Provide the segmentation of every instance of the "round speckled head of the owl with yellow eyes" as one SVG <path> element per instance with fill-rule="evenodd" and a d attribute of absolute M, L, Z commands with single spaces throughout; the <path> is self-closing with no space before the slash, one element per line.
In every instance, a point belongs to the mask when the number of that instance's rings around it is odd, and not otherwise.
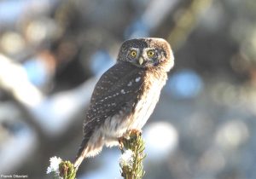
<path fill-rule="evenodd" d="M 162 38 L 136 38 L 125 41 L 119 50 L 118 61 L 165 72 L 169 72 L 174 65 L 171 46 Z"/>

